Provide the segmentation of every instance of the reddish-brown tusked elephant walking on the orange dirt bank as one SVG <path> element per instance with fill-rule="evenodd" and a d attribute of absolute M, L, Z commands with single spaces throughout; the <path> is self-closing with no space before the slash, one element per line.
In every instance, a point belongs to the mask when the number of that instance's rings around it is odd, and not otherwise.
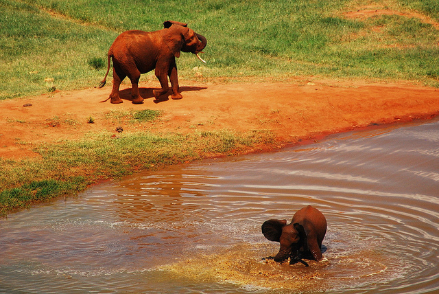
<path fill-rule="evenodd" d="M 173 92 L 171 98 L 182 98 L 178 93 L 176 57 L 180 57 L 180 51 L 191 52 L 198 56 L 198 53 L 206 47 L 207 40 L 189 29 L 187 23 L 165 21 L 163 25 L 165 26 L 163 30 L 155 32 L 139 30 L 123 32 L 112 43 L 108 50 L 107 72 L 104 80 L 99 84 L 99 88 L 102 88 L 106 83 L 111 58 L 113 64 L 111 103 L 123 102 L 119 97 L 119 86 L 127 76 L 132 84 L 132 103 L 142 103 L 143 98 L 139 95 L 139 78 L 141 74 L 152 69 L 156 69 L 155 74 L 161 84 L 161 89 L 153 91 L 156 100 L 169 89 L 167 76 L 171 81 Z"/>

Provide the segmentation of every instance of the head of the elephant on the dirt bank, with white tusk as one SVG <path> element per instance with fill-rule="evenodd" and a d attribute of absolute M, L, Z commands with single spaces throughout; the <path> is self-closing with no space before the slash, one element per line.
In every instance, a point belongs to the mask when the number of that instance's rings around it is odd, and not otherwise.
<path fill-rule="evenodd" d="M 187 27 L 187 23 L 178 21 L 165 21 L 163 23 L 167 32 L 163 36 L 163 41 L 171 49 L 176 57 L 180 57 L 180 51 L 195 54 L 203 63 L 206 61 L 198 55 L 206 47 L 207 40 L 204 36 L 193 32 Z"/>

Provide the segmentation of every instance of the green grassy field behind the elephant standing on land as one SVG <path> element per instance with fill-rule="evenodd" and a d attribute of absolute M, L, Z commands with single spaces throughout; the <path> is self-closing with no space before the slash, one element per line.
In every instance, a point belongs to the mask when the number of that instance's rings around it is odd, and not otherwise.
<path fill-rule="evenodd" d="M 320 75 L 435 84 L 438 30 L 405 16 L 343 15 L 370 3 L 439 17 L 438 0 L 0 0 L 0 99 L 45 93 L 45 78 L 61 90 L 94 87 L 120 32 L 160 30 L 167 19 L 185 21 L 208 39 L 204 78 Z M 180 77 L 193 78 L 200 63 L 182 54 L 178 66 Z"/>

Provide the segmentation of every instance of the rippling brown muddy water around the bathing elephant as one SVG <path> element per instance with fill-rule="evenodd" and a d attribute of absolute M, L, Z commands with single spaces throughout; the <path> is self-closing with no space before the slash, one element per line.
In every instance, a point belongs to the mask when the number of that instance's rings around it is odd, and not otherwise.
<path fill-rule="evenodd" d="M 308 204 L 324 260 L 261 260 L 263 221 Z M 0 229 L 1 293 L 434 293 L 439 121 L 136 174 Z"/>

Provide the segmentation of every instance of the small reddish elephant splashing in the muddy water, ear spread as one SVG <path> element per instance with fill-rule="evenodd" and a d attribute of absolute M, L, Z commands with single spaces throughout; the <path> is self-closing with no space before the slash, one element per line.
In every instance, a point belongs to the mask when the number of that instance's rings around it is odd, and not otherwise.
<path fill-rule="evenodd" d="M 292 222 L 287 220 L 267 220 L 262 225 L 262 234 L 270 241 L 281 243 L 281 249 L 274 261 L 283 262 L 287 258 L 290 264 L 298 261 L 307 266 L 302 258 L 322 260 L 322 240 L 327 232 L 327 220 L 322 212 L 308 205 L 298 210 Z"/>

